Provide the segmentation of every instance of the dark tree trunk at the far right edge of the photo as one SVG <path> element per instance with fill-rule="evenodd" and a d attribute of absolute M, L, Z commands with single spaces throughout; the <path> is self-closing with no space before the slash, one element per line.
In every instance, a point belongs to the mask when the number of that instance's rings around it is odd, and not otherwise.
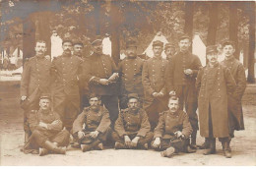
<path fill-rule="evenodd" d="M 254 65 L 255 65 L 255 2 L 250 3 L 249 8 L 249 53 L 248 53 L 248 77 L 247 82 L 255 84 Z"/>

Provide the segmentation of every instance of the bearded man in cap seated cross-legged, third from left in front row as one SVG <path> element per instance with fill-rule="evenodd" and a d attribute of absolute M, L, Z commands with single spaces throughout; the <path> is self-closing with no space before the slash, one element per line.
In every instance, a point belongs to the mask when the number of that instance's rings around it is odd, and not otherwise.
<path fill-rule="evenodd" d="M 146 111 L 139 106 L 138 94 L 128 94 L 128 108 L 119 113 L 114 130 L 115 149 L 148 149 L 153 133 Z"/>

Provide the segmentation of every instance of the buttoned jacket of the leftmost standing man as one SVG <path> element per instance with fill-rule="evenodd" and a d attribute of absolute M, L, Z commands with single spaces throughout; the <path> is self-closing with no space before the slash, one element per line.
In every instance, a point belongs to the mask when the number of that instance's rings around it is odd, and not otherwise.
<path fill-rule="evenodd" d="M 34 56 L 28 59 L 22 75 L 21 95 L 30 97 L 33 94 L 40 95 L 41 92 L 49 93 L 50 66 L 51 61 L 45 57 Z"/>

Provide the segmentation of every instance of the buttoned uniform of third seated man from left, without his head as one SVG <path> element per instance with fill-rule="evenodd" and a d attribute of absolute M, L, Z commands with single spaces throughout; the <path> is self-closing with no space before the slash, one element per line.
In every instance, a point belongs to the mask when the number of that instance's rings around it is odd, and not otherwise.
<path fill-rule="evenodd" d="M 131 112 L 129 108 L 121 110 L 115 122 L 112 138 L 114 141 L 124 143 L 124 136 L 131 140 L 140 137 L 138 145 L 144 145 L 153 138 L 148 115 L 140 108 L 138 112 Z"/>

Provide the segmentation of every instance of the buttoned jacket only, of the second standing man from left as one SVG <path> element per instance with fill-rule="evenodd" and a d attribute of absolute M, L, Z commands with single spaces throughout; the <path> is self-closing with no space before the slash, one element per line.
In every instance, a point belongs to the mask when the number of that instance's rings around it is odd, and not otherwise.
<path fill-rule="evenodd" d="M 78 82 L 83 79 L 83 61 L 77 56 L 61 55 L 53 59 L 53 93 L 79 95 Z"/>

